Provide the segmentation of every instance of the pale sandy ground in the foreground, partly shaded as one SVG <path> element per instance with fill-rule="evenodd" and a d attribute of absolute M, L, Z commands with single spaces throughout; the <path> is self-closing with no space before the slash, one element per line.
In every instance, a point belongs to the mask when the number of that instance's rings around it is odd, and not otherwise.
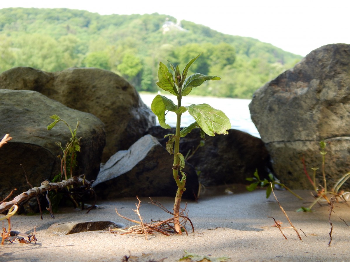
<path fill-rule="evenodd" d="M 37 243 L 5 243 L 0 247 L 0 261 L 122 261 L 124 255 L 131 254 L 128 261 L 179 261 L 184 250 L 209 257 L 230 257 L 227 261 L 349 261 L 350 228 L 338 218 L 342 217 L 350 225 L 350 208 L 344 203 L 336 204 L 332 214 L 332 242 L 329 242 L 329 208 L 315 205 L 313 213 L 295 212 L 300 206 L 308 206 L 313 201 L 310 191 L 296 191 L 304 200 L 295 198 L 287 191 L 276 191 L 281 205 L 299 231 L 299 240 L 293 228 L 283 228 L 282 236 L 278 228 L 272 226 L 276 220 L 288 227 L 289 223 L 273 196 L 265 198 L 264 190 L 247 192 L 234 188 L 234 194 L 225 194 L 224 188 L 206 194 L 196 202 L 188 202 L 189 217 L 195 232 L 186 235 L 118 235 L 106 231 L 92 231 L 57 236 L 47 228 L 54 223 L 76 220 L 111 220 L 132 226 L 129 221 L 118 217 L 115 208 L 126 217 L 137 219 L 136 198 L 100 201 L 102 209 L 76 211 L 66 208 L 55 214 L 40 216 L 17 215 L 12 218 L 13 230 L 23 233 L 37 228 Z M 173 199 L 157 197 L 169 210 Z M 149 198 L 141 198 L 140 213 L 145 222 L 168 218 L 168 214 L 149 203 Z M 187 227 L 189 229 L 189 227 Z"/>

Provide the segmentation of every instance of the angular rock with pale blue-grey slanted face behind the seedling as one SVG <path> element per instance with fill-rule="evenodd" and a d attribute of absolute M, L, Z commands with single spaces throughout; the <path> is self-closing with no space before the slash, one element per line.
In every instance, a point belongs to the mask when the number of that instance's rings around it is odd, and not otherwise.
<path fill-rule="evenodd" d="M 135 196 L 175 197 L 173 156 L 158 140 L 147 134 L 128 150 L 118 151 L 101 166 L 93 188 L 98 197 L 118 198 Z M 190 165 L 186 165 L 186 191 L 184 198 L 194 199 L 198 191 L 198 177 Z"/>

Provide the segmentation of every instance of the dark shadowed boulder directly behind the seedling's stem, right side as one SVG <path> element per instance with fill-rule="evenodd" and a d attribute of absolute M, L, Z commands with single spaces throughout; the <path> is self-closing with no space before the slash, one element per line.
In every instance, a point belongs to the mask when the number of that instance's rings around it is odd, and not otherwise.
<path fill-rule="evenodd" d="M 199 129 L 181 138 L 180 153 L 186 156 L 189 152 L 188 162 L 196 168 L 200 182 L 204 185 L 247 183 L 246 178 L 252 177 L 256 169 L 261 177 L 267 177 L 270 159 L 261 139 L 235 129 L 228 132 L 215 137 L 205 136 L 204 146 L 200 147 Z M 164 135 L 175 133 L 175 129 L 154 126 L 148 133 L 165 147 L 168 138 Z"/>

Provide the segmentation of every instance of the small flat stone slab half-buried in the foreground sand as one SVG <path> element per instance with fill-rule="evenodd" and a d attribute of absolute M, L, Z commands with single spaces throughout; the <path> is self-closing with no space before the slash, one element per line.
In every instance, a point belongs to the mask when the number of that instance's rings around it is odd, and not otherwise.
<path fill-rule="evenodd" d="M 123 223 L 115 223 L 112 221 L 78 221 L 69 223 L 59 223 L 51 225 L 47 230 L 55 235 L 69 235 L 85 231 L 106 230 L 108 228 L 125 227 Z"/>

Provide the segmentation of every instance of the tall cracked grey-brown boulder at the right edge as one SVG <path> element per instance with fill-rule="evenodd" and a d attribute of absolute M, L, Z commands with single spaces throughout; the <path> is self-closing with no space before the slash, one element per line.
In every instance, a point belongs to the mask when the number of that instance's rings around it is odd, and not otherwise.
<path fill-rule="evenodd" d="M 349 172 L 349 72 L 350 45 L 325 45 L 254 93 L 249 105 L 252 121 L 266 143 L 277 177 L 289 187 L 311 187 L 303 158 L 307 172 L 320 168 L 316 176 L 322 177 L 321 140 L 327 143 L 328 185 Z"/>

